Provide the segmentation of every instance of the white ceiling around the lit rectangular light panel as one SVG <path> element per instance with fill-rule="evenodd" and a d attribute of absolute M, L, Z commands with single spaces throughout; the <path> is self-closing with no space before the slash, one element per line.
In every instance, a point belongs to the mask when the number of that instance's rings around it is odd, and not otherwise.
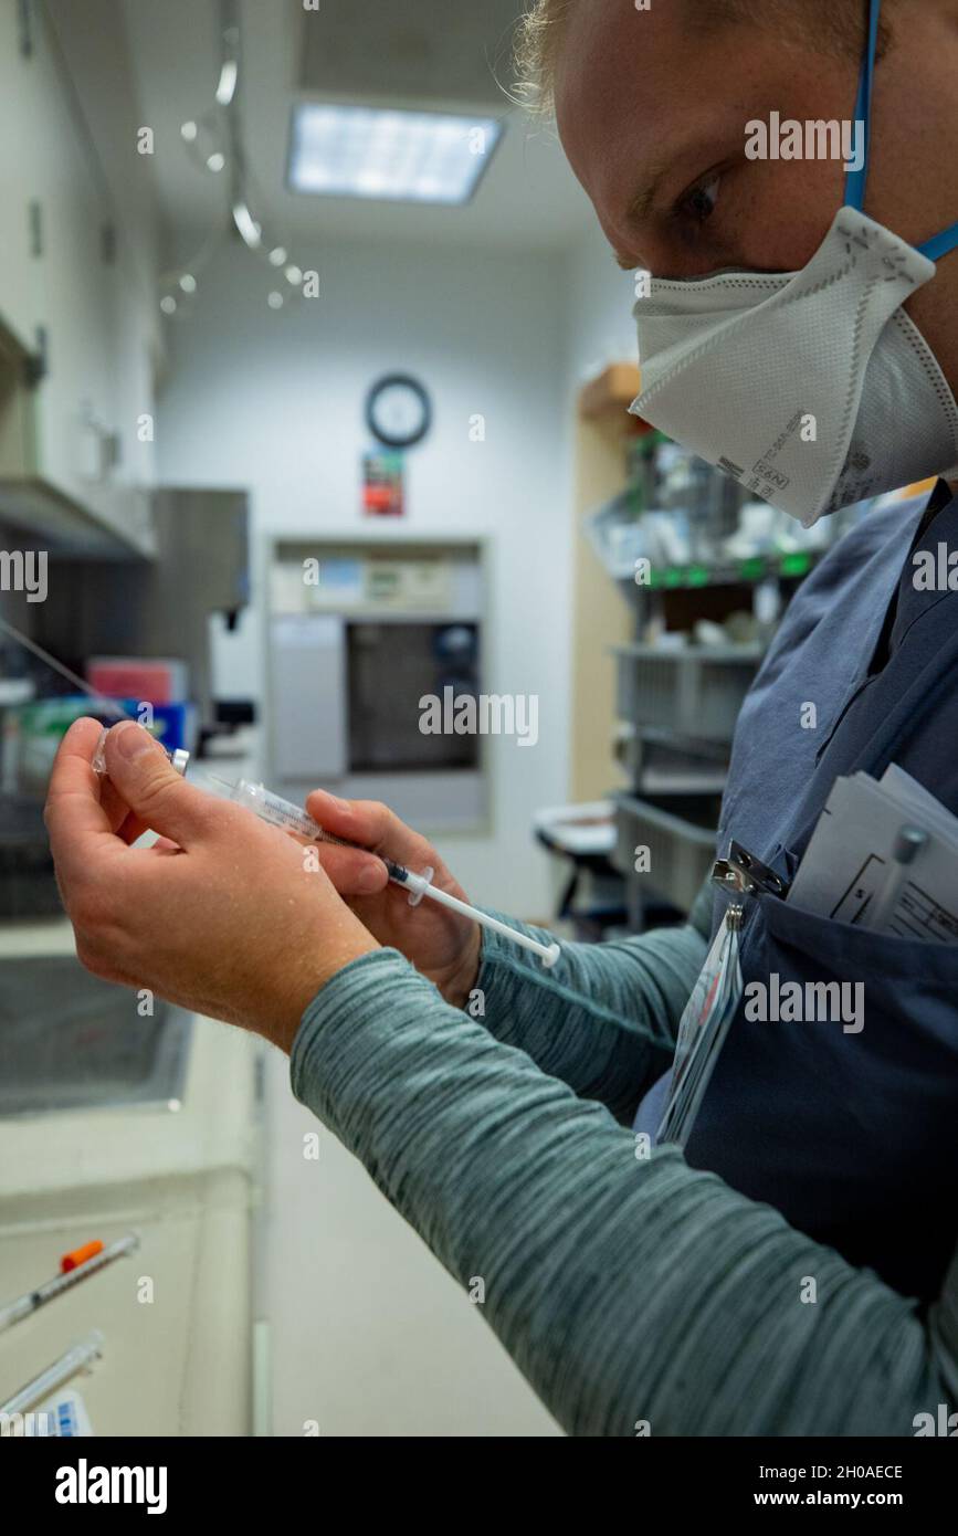
<path fill-rule="evenodd" d="M 141 121 L 155 132 L 161 217 L 183 255 L 198 232 L 227 217 L 226 178 L 198 170 L 180 137 L 180 124 L 213 103 L 220 6 L 218 0 L 120 3 Z M 573 244 L 591 221 L 585 194 L 554 131 L 530 124 L 494 83 L 493 71 L 510 80 L 510 18 L 520 9 L 520 0 L 319 0 L 319 9 L 307 12 L 302 0 L 240 0 L 244 144 L 258 190 L 253 214 L 269 238 L 543 252 Z M 330 80 L 349 91 L 332 92 Z M 507 129 L 467 207 L 309 197 L 286 190 L 290 108 L 306 95 L 485 112 L 491 106 Z"/>

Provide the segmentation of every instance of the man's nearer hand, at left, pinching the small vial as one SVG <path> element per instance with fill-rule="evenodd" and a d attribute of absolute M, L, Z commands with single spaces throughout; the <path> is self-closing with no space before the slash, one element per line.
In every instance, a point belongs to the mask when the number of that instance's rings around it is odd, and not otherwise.
<path fill-rule="evenodd" d="M 304 1008 L 378 942 L 315 849 L 184 783 L 132 720 L 91 766 L 95 720 L 66 733 L 46 825 L 77 955 L 95 975 L 266 1035 L 289 1051 Z M 152 848 L 130 848 L 144 826 Z"/>

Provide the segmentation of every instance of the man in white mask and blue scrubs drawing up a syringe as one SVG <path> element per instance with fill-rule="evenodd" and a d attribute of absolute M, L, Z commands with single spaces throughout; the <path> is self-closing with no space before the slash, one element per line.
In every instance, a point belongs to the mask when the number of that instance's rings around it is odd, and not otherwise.
<path fill-rule="evenodd" d="M 749 696 L 718 845 L 781 876 L 838 774 L 897 762 L 958 813 L 958 593 L 912 582 L 917 551 L 958 550 L 958 0 L 880 11 L 542 0 L 528 28 L 620 264 L 656 278 L 637 413 L 806 524 L 944 476 L 823 561 Z M 749 160 L 746 124 L 772 111 L 854 115 L 867 163 L 844 184 L 841 163 Z M 709 889 L 685 929 L 567 945 L 545 972 L 410 914 L 368 857 L 324 849 L 329 882 L 306 886 L 279 834 L 130 753 L 135 734 L 107 742 L 115 802 L 92 722 L 51 786 L 81 957 L 290 1051 L 298 1097 L 458 1279 L 484 1278 L 485 1319 L 567 1430 L 910 1436 L 955 1405 L 956 946 L 761 902 L 746 982 L 861 980 L 864 1029 L 737 1017 L 686 1154 L 646 1155 Z M 309 809 L 459 891 L 385 808 L 316 791 Z M 143 820 L 181 852 L 137 863 Z"/>

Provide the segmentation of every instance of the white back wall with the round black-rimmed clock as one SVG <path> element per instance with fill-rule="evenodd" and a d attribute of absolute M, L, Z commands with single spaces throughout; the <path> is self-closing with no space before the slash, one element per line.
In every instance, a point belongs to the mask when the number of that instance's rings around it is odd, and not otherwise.
<path fill-rule="evenodd" d="M 537 746 L 490 743 L 494 836 L 444 839 L 442 852 L 476 900 L 547 915 L 530 823 L 568 782 L 563 261 L 356 246 L 298 260 L 319 272 L 321 296 L 295 315 L 266 307 L 269 276 L 241 249 L 204 273 L 192 316 L 170 327 L 160 478 L 249 487 L 258 542 L 361 527 L 365 392 L 396 367 L 422 378 L 434 427 L 407 458 L 407 530 L 493 538 L 485 687 L 539 696 Z M 485 442 L 470 442 L 476 413 Z M 218 647 L 224 693 L 261 694 L 259 650 L 247 616 Z"/>

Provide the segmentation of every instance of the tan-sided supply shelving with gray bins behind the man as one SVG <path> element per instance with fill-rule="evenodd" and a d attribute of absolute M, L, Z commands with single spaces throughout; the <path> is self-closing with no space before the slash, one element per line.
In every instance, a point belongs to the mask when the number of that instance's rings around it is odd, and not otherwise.
<path fill-rule="evenodd" d="M 679 634 L 699 619 L 725 625 L 752 613 L 768 582 L 785 608 L 820 559 L 786 548 L 654 564 L 637 581 L 642 496 L 633 508 L 628 456 L 649 430 L 628 415 L 639 384 L 637 367 L 614 364 L 579 396 L 576 547 L 590 548 L 576 561 L 571 740 L 573 800 L 616 808 L 609 859 L 637 929 L 649 908 L 683 915 L 711 868 L 735 722 L 768 644 L 768 628 L 748 644 L 680 644 Z M 649 633 L 666 639 L 649 644 Z M 648 849 L 648 869 L 636 868 L 637 849 Z"/>

